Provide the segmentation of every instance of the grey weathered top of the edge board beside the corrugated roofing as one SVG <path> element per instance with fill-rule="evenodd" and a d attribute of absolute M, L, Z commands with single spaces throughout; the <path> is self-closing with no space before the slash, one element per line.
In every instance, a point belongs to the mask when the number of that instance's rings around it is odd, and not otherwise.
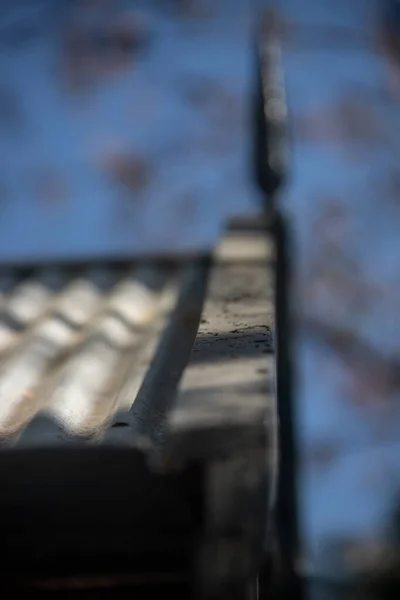
<path fill-rule="evenodd" d="M 169 415 L 171 445 L 179 453 L 238 450 L 263 437 L 274 421 L 272 249 L 265 234 L 242 234 L 242 247 L 246 240 L 245 260 L 234 236 L 216 253 L 198 335 Z"/>

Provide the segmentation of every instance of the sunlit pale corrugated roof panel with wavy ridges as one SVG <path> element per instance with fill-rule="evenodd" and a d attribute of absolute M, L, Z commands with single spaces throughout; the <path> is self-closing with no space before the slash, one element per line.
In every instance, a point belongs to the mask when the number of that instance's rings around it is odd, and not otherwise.
<path fill-rule="evenodd" d="M 0 314 L 2 438 L 16 441 L 39 411 L 72 435 L 104 427 L 122 371 L 161 318 L 171 281 L 155 267 L 60 269 L 23 279 Z"/>

